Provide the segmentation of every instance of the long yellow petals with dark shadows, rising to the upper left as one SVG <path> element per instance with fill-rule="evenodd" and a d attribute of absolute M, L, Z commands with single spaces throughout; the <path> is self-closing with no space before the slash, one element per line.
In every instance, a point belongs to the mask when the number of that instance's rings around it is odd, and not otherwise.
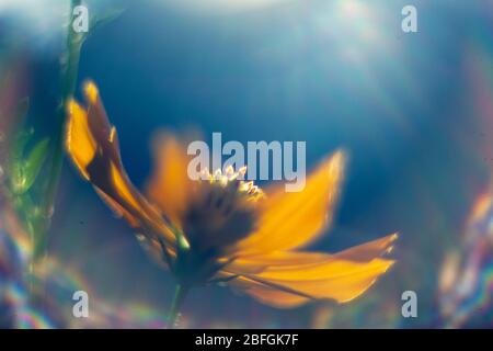
<path fill-rule="evenodd" d="M 128 180 L 119 156 L 116 129 L 107 120 L 94 83 L 84 86 L 84 95 L 87 110 L 73 100 L 68 104 L 68 155 L 112 210 L 122 214 L 133 227 L 147 234 L 159 234 L 173 244 L 174 235 L 159 213 Z"/>

